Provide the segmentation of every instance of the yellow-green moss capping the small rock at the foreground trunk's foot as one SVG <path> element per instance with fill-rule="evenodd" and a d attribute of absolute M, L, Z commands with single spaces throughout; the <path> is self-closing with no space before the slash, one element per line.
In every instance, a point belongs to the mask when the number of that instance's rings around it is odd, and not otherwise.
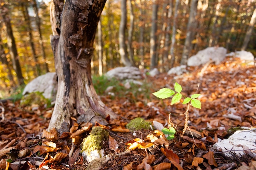
<path fill-rule="evenodd" d="M 109 132 L 101 127 L 93 127 L 90 135 L 83 139 L 81 152 L 90 153 L 93 150 L 101 150 L 103 142 L 108 139 Z"/>

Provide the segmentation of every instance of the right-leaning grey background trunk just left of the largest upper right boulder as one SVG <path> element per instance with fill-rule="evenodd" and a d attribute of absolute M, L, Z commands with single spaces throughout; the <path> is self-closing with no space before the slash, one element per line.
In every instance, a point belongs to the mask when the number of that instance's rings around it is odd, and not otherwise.
<path fill-rule="evenodd" d="M 186 32 L 186 40 L 185 40 L 185 44 L 184 44 L 184 48 L 183 48 L 183 53 L 182 53 L 182 59 L 180 64 L 186 65 L 187 64 L 187 60 L 189 58 L 189 53 L 192 49 L 192 35 L 194 31 L 194 23 L 195 23 L 195 16 L 197 13 L 197 4 L 198 4 L 198 0 L 192 0 L 191 1 L 191 6 L 190 6 L 190 10 L 189 10 L 189 22 L 187 24 L 187 32 Z"/>

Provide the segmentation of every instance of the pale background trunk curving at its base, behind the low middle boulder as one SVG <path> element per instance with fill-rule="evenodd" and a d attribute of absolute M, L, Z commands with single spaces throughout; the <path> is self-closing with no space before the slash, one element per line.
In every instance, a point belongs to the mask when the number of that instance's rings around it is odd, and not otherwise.
<path fill-rule="evenodd" d="M 126 7 L 126 0 L 121 0 L 121 21 L 119 26 L 119 34 L 118 34 L 118 40 L 119 40 L 119 53 L 121 57 L 121 62 L 125 66 L 132 66 L 130 63 L 130 60 L 128 59 L 127 55 L 127 47 L 126 47 L 126 23 L 127 23 L 127 7 Z"/>

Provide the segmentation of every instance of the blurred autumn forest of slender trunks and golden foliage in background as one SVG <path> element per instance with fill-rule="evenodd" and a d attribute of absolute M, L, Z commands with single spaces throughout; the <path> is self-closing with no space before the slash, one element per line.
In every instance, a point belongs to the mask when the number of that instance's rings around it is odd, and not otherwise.
<path fill-rule="evenodd" d="M 0 0 L 0 98 L 54 72 L 50 2 Z M 117 66 L 166 72 L 209 46 L 256 56 L 256 0 L 107 0 L 92 75 Z"/>

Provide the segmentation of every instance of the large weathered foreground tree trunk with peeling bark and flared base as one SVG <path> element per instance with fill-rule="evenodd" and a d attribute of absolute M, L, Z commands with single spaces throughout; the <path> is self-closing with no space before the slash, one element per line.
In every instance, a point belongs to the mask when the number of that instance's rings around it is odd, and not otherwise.
<path fill-rule="evenodd" d="M 52 24 L 58 0 L 52 2 Z M 60 15 L 60 35 L 52 36 L 51 44 L 55 57 L 58 76 L 56 103 L 49 123 L 49 129 L 59 132 L 70 127 L 70 117 L 80 121 L 99 122 L 106 125 L 105 118 L 115 119 L 117 115 L 99 99 L 92 85 L 90 62 L 93 55 L 93 43 L 97 24 L 106 0 L 65 0 Z M 57 9 L 58 10 L 58 9 Z M 55 15 L 56 17 L 56 15 Z M 56 22 L 55 22 L 56 24 Z M 58 32 L 58 31 L 57 31 Z"/>

